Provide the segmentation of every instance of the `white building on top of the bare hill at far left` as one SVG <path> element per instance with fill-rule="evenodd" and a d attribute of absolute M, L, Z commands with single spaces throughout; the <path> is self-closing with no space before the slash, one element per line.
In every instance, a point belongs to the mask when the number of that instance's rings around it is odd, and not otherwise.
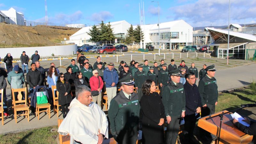
<path fill-rule="evenodd" d="M 8 11 L 0 11 L 1 22 L 7 22 L 9 24 L 16 24 L 20 26 L 25 26 L 26 20 L 24 19 L 24 14 L 17 12 L 14 8 L 10 8 Z"/>

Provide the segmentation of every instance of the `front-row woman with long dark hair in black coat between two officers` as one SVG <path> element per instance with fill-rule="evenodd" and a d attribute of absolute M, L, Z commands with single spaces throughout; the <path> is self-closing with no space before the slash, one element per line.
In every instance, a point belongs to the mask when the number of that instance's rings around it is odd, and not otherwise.
<path fill-rule="evenodd" d="M 155 82 L 146 80 L 142 85 L 143 96 L 140 99 L 142 118 L 142 143 L 164 143 L 164 105 L 156 92 Z"/>

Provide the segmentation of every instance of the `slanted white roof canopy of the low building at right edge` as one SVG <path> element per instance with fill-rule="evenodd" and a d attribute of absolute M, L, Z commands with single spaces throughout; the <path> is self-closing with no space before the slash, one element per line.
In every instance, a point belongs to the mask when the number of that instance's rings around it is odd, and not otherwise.
<path fill-rule="evenodd" d="M 216 28 L 205 28 L 212 35 L 215 42 L 225 41 L 228 42 L 228 30 L 216 29 Z M 256 37 L 249 34 L 229 31 L 230 41 L 234 42 L 256 42 Z M 238 38 L 238 39 L 237 39 Z"/>

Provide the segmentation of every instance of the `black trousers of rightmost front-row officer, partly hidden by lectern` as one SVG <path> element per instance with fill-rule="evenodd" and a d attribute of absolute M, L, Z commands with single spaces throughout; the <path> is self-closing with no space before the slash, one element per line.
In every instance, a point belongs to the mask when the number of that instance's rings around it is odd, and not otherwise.
<path fill-rule="evenodd" d="M 208 115 L 212 115 L 215 113 L 215 105 L 212 104 L 206 104 L 207 107 L 206 108 L 202 108 L 201 110 L 201 117 L 204 116 L 208 116 Z M 200 135 L 210 135 L 210 132 L 205 131 L 204 129 L 200 128 Z M 212 136 L 214 136 L 213 134 L 211 134 Z"/>

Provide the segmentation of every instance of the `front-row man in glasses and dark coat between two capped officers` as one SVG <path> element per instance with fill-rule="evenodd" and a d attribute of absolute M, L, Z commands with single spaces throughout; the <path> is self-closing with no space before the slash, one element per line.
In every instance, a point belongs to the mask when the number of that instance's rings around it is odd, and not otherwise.
<path fill-rule="evenodd" d="M 185 75 L 185 78 L 186 83 L 183 85 L 186 95 L 186 111 L 184 117 L 185 139 L 196 142 L 193 132 L 196 125 L 196 119 L 200 116 L 199 113 L 201 112 L 202 102 L 197 85 L 195 84 L 196 74 L 188 72 Z"/>

